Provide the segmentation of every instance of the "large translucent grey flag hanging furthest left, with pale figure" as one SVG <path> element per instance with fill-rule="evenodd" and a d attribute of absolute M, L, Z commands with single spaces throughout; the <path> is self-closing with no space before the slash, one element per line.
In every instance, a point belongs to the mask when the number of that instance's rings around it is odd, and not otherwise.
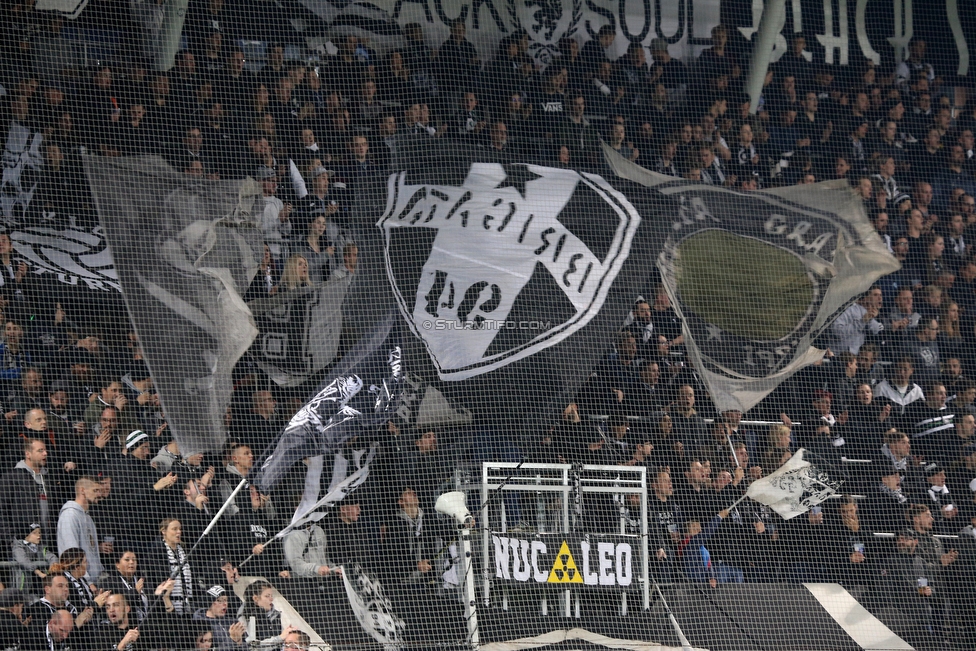
<path fill-rule="evenodd" d="M 158 157 L 88 157 L 85 169 L 180 451 L 217 450 L 231 370 L 257 334 L 241 294 L 262 250 L 261 188 L 189 177 Z"/>

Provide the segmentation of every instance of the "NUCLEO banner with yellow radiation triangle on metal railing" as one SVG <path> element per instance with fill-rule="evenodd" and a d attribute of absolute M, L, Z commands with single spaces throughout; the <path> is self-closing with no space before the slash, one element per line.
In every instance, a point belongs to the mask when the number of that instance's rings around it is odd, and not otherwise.
<path fill-rule="evenodd" d="M 641 576 L 637 536 L 537 534 L 519 538 L 492 533 L 491 543 L 494 574 L 500 581 L 620 590 L 637 585 Z"/>

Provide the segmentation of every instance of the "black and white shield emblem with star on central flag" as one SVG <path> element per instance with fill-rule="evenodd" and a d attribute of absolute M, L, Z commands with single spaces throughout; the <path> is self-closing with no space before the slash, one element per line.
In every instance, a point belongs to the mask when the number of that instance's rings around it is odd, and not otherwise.
<path fill-rule="evenodd" d="M 636 209 L 603 178 L 475 163 L 463 184 L 390 177 L 387 273 L 444 380 L 571 336 L 599 312 L 630 254 Z"/>

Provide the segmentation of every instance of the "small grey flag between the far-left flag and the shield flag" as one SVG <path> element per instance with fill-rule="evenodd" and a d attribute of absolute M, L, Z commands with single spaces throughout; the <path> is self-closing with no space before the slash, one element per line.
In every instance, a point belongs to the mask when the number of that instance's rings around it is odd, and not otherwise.
<path fill-rule="evenodd" d="M 347 274 L 248 303 L 260 330 L 255 359 L 276 384 L 301 384 L 335 359 L 352 279 Z"/>

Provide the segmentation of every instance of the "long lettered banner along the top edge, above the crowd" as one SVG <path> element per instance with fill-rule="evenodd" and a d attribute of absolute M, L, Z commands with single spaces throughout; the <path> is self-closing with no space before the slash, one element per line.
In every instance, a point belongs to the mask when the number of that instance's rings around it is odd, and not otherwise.
<path fill-rule="evenodd" d="M 748 47 L 759 29 L 764 0 L 299 0 L 333 25 L 370 38 L 380 50 L 402 45 L 400 27 L 419 23 L 428 42 L 447 39 L 449 25 L 461 18 L 467 38 L 482 62 L 495 57 L 499 41 L 525 32 L 530 54 L 547 64 L 558 53 L 559 41 L 587 41 L 604 25 L 617 30 L 607 50 L 622 56 L 631 43 L 650 44 L 664 38 L 672 56 L 690 60 L 710 45 L 711 29 L 720 22 L 732 33 L 732 47 Z M 937 73 L 965 76 L 976 34 L 976 12 L 958 0 L 791 0 L 779 29 L 773 61 L 787 49 L 795 32 L 806 36 L 804 56 L 829 65 L 902 61 L 913 37 L 929 41 Z M 943 44 L 933 49 L 936 43 Z"/>

